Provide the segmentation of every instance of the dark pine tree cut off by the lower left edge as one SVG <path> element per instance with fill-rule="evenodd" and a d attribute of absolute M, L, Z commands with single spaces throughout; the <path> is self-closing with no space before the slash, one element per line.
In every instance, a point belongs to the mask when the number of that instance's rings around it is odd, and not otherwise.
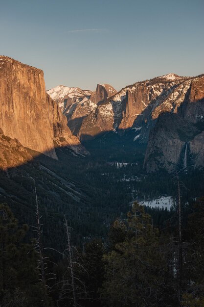
<path fill-rule="evenodd" d="M 0 302 L 10 306 L 41 306 L 34 245 L 23 243 L 28 226 L 19 227 L 6 204 L 0 205 Z"/>

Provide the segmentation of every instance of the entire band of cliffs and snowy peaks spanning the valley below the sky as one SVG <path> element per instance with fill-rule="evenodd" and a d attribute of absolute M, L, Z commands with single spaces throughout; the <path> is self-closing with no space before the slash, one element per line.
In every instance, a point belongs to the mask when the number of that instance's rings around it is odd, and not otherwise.
<path fill-rule="evenodd" d="M 147 172 L 200 168 L 204 166 L 204 75 L 171 73 L 119 92 L 109 84 L 98 84 L 95 91 L 59 85 L 46 93 L 42 70 L 0 56 L 0 129 L 4 169 L 10 167 L 7 155 L 14 148 L 21 152 L 17 164 L 30 159 L 26 148 L 52 158 L 57 158 L 56 147 L 85 155 L 89 154 L 86 141 L 108 132 L 129 135 L 128 142 L 135 145 L 146 144 Z M 13 166 L 14 160 L 10 160 Z"/>

